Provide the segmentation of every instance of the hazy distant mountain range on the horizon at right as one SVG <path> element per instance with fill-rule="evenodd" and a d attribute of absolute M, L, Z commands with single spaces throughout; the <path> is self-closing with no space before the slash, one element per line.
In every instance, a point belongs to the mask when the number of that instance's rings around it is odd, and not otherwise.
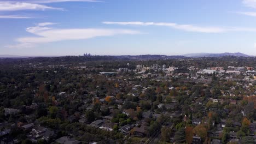
<path fill-rule="evenodd" d="M 250 57 L 244 53 L 236 52 L 236 53 L 189 53 L 183 55 L 185 57 L 223 57 L 223 56 L 235 56 L 235 57 Z"/>

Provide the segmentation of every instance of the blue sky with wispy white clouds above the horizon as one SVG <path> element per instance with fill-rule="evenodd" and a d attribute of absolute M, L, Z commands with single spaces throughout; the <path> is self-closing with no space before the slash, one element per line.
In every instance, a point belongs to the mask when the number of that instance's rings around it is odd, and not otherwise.
<path fill-rule="evenodd" d="M 256 56 L 256 0 L 0 0 L 0 55 Z"/>

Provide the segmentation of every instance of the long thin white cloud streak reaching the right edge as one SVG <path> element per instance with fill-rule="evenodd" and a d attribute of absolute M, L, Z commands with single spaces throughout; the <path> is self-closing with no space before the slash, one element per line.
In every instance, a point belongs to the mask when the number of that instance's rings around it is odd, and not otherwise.
<path fill-rule="evenodd" d="M 166 26 L 174 29 L 180 29 L 182 31 L 188 32 L 200 32 L 200 33 L 222 33 L 228 31 L 248 31 L 256 32 L 256 28 L 242 28 L 242 27 L 202 27 L 194 25 L 179 25 L 177 23 L 167 23 L 167 22 L 140 22 L 140 21 L 131 21 L 131 22 L 111 22 L 104 21 L 102 22 L 108 25 L 139 25 L 139 26 Z"/>

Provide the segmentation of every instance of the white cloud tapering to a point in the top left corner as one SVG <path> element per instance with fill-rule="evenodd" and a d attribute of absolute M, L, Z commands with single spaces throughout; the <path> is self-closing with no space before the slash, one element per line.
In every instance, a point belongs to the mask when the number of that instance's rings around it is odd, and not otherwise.
<path fill-rule="evenodd" d="M 57 9 L 62 8 L 48 7 L 42 4 L 26 3 L 26 2 L 0 2 L 0 11 L 18 11 L 18 10 L 45 10 L 45 9 Z"/>

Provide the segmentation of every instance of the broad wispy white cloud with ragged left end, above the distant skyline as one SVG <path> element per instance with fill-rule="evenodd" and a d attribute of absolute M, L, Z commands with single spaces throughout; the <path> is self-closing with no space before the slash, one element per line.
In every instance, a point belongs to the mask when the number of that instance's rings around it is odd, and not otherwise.
<path fill-rule="evenodd" d="M 41 26 L 40 26 L 41 25 Z M 56 29 L 44 27 L 50 23 L 39 23 L 35 27 L 28 27 L 26 31 L 36 35 L 36 37 L 22 37 L 16 39 L 19 44 L 8 45 L 6 47 L 33 47 L 42 43 L 51 43 L 63 40 L 82 40 L 95 37 L 108 37 L 117 34 L 139 34 L 139 31 L 130 29 L 97 29 L 97 28 L 74 28 L 74 29 Z"/>

